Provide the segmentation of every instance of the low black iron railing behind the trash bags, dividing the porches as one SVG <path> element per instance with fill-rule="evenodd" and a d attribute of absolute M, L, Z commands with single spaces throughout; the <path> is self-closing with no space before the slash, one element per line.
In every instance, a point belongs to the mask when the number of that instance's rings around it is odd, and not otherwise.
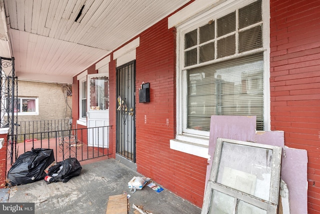
<path fill-rule="evenodd" d="M 12 146 L 14 151 L 13 162 L 20 154 L 30 151 L 31 148 L 53 149 L 56 162 L 68 157 L 83 161 L 111 154 L 109 149 L 111 126 L 50 130 L 55 127 L 53 124 L 55 123 L 52 122 L 49 129 L 45 126 L 47 131 L 15 134 L 14 139 L 19 141 L 15 140 L 13 144 L 9 142 L 9 146 Z"/>

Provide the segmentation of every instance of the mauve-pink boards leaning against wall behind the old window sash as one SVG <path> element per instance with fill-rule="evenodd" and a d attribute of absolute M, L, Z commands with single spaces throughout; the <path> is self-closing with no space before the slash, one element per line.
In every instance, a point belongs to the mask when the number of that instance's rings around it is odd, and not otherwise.
<path fill-rule="evenodd" d="M 282 147 L 281 179 L 289 189 L 290 214 L 307 213 L 306 150 L 284 146 L 283 131 L 255 131 L 255 116 L 211 116 L 207 182 L 217 138 L 250 141 Z"/>

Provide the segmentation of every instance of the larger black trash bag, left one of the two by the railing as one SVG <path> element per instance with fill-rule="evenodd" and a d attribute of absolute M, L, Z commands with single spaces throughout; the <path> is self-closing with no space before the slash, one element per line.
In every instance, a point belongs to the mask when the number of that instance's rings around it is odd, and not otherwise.
<path fill-rule="evenodd" d="M 8 171 L 8 184 L 32 183 L 45 177 L 44 169 L 54 162 L 53 149 L 36 148 L 21 154 Z"/>

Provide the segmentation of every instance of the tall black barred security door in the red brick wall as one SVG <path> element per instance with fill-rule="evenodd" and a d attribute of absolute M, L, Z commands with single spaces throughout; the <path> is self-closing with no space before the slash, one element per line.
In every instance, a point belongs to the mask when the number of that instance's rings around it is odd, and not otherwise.
<path fill-rule="evenodd" d="M 135 162 L 135 61 L 116 69 L 116 152 Z"/>

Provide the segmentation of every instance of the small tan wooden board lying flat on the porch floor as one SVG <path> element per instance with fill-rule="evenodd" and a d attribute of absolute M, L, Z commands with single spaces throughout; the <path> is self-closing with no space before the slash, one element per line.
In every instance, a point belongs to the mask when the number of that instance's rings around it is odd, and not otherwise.
<path fill-rule="evenodd" d="M 126 194 L 110 195 L 105 214 L 127 214 Z"/>

